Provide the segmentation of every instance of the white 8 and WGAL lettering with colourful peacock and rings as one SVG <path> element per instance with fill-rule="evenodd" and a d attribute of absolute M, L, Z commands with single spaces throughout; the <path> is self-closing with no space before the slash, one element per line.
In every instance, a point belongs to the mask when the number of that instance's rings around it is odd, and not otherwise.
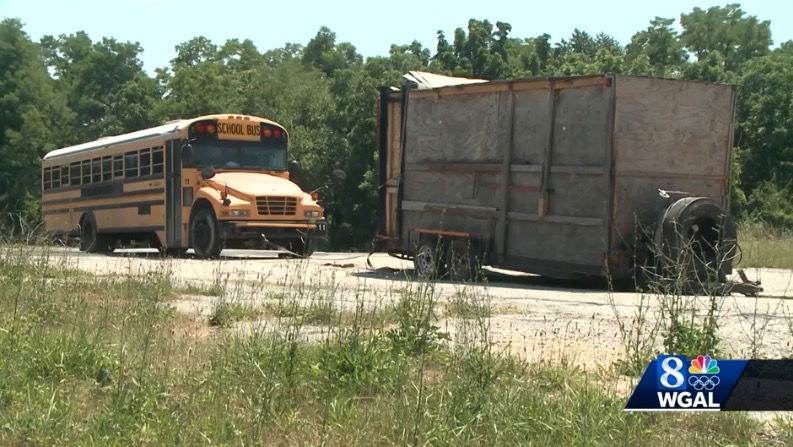
<path fill-rule="evenodd" d="M 718 409 L 713 390 L 720 383 L 719 372 L 718 362 L 710 356 L 698 356 L 690 362 L 681 355 L 658 356 L 658 405 L 669 409 Z"/>

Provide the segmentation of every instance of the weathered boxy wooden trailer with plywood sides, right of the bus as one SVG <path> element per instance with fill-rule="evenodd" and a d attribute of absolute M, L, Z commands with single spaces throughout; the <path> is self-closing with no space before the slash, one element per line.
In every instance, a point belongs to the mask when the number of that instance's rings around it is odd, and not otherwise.
<path fill-rule="evenodd" d="M 735 86 L 609 74 L 421 87 L 381 90 L 380 250 L 420 274 L 481 263 L 626 279 L 694 241 L 700 267 L 730 273 Z"/>

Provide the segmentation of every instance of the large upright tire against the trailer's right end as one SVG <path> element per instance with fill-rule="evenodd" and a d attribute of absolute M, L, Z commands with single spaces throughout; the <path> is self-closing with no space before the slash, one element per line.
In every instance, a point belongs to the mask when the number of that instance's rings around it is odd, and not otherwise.
<path fill-rule="evenodd" d="M 737 251 L 735 223 L 714 199 L 686 197 L 661 213 L 654 244 L 664 277 L 724 282 Z"/>

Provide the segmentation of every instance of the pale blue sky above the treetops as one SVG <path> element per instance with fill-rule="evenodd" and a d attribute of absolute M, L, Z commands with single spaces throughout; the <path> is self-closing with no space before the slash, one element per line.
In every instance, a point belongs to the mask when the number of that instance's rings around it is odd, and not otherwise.
<path fill-rule="evenodd" d="M 451 40 L 455 28 L 466 28 L 468 20 L 476 18 L 510 23 L 511 37 L 548 33 L 558 42 L 579 28 L 592 35 L 606 32 L 624 45 L 655 16 L 679 19 L 695 6 L 706 9 L 727 3 L 730 1 L 0 0 L 0 17 L 21 19 L 34 40 L 85 31 L 95 41 L 113 37 L 139 42 L 144 68 L 153 73 L 155 68 L 169 65 L 177 44 L 196 36 L 216 44 L 250 39 L 263 52 L 287 42 L 305 45 L 324 25 L 336 33 L 337 42 L 352 43 L 365 57 L 387 55 L 391 44 L 413 40 L 434 53 L 438 30 Z M 741 8 L 771 21 L 775 45 L 793 39 L 793 0 L 746 1 Z"/>

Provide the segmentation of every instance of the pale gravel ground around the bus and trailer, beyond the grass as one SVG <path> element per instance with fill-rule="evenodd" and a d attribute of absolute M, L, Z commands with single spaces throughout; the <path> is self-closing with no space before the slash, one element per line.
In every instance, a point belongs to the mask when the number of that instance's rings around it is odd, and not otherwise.
<path fill-rule="evenodd" d="M 52 262 L 64 262 L 97 275 L 138 275 L 167 271 L 177 283 L 224 284 L 228 296 L 266 300 L 290 287 L 314 286 L 332 294 L 340 307 L 363 300 L 382 305 L 398 299 L 406 287 L 415 287 L 412 264 L 385 254 L 315 253 L 309 260 L 283 259 L 272 251 L 227 250 L 215 261 L 162 259 L 147 250 L 124 250 L 110 256 L 80 253 L 73 249 L 50 250 Z M 760 357 L 793 354 L 793 271 L 749 269 L 750 279 L 762 280 L 760 298 L 735 294 L 720 297 L 719 336 L 722 357 L 743 358 L 753 350 Z M 489 270 L 482 284 L 439 282 L 435 285 L 439 326 L 453 337 L 480 330 L 484 322 L 494 344 L 529 361 L 571 361 L 594 369 L 623 358 L 623 332 L 619 321 L 632 326 L 637 312 L 647 309 L 647 324 L 659 318 L 664 299 L 637 293 L 609 292 L 603 284 L 559 281 L 535 275 Z M 464 298 L 461 298 L 464 297 Z M 446 318 L 442 309 L 460 300 L 489 302 L 489 319 Z M 699 313 L 709 306 L 706 298 L 686 298 Z M 205 318 L 217 297 L 185 295 L 174 301 L 180 312 Z M 261 322 L 245 323 L 247 328 Z M 266 322 L 265 322 L 266 324 Z M 313 329 L 312 329 L 313 331 Z M 310 333 L 313 333 L 309 331 Z M 322 333 L 321 328 L 314 332 Z M 662 350 L 661 337 L 654 343 Z"/>

